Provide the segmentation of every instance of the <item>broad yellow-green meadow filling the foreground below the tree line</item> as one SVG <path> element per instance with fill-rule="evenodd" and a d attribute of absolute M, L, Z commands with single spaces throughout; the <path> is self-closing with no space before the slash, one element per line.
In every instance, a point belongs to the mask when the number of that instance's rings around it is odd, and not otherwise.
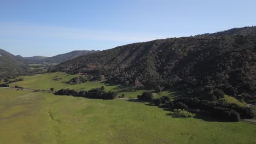
<path fill-rule="evenodd" d="M 256 143 L 256 125 L 172 118 L 125 100 L 0 88 L 1 143 Z"/>

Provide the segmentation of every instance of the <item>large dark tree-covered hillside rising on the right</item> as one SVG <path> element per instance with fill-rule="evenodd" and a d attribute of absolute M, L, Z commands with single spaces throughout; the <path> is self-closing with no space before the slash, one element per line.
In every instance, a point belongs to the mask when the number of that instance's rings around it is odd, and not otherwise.
<path fill-rule="evenodd" d="M 256 28 L 115 47 L 56 65 L 54 71 L 104 75 L 148 89 L 211 85 L 235 95 L 255 92 Z"/>

